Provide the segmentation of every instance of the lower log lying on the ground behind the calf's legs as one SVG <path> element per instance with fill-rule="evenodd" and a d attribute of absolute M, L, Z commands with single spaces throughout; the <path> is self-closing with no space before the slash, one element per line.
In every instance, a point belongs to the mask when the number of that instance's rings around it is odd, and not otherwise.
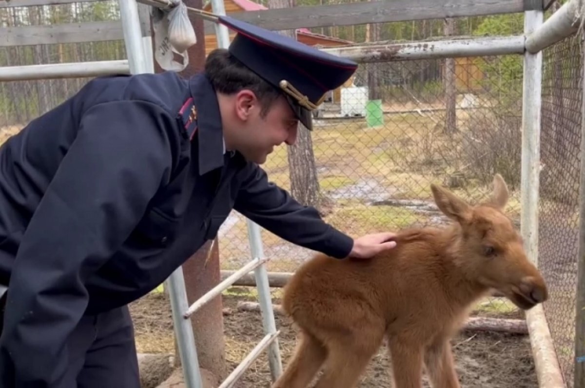
<path fill-rule="evenodd" d="M 260 305 L 256 302 L 238 302 L 238 311 L 252 311 L 260 313 Z M 273 304 L 274 314 L 283 315 L 284 311 L 280 304 Z M 513 334 L 528 334 L 526 321 L 521 319 L 504 319 L 488 317 L 469 317 L 463 330 L 469 331 L 499 331 Z"/>

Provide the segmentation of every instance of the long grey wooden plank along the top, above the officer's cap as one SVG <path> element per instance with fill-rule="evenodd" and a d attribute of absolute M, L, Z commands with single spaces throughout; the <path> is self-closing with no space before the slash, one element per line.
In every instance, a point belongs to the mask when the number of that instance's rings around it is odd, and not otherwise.
<path fill-rule="evenodd" d="M 422 19 L 460 18 L 524 11 L 524 0 L 369 1 L 230 13 L 235 19 L 269 30 L 350 26 Z M 213 33 L 205 23 L 205 33 Z"/>

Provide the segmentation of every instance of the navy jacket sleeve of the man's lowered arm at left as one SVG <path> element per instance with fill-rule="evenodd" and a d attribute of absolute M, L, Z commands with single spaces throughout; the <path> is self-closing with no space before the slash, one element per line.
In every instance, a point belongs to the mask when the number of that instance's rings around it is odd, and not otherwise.
<path fill-rule="evenodd" d="M 168 179 L 174 140 L 166 130 L 176 127 L 148 102 L 101 103 L 82 116 L 14 262 L 0 341 L 0 375 L 13 373 L 11 387 L 64 384 L 67 337 L 88 302 L 85 280 Z"/>

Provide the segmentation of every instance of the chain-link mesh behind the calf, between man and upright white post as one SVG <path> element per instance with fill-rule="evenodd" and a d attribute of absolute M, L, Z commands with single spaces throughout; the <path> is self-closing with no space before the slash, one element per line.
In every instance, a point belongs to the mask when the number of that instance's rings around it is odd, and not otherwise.
<path fill-rule="evenodd" d="M 519 227 L 521 56 L 363 63 L 352 83 L 331 93 L 310 135 L 301 130 L 297 145 L 269 156 L 264 168 L 271 181 L 357 237 L 445 223 L 432 182 L 473 202 L 486 199 L 499 172 Z M 313 253 L 261 234 L 270 272 L 294 272 Z M 223 269 L 249 260 L 239 213 L 230 214 L 219 240 Z M 521 314 L 504 299 L 478 308 Z"/>

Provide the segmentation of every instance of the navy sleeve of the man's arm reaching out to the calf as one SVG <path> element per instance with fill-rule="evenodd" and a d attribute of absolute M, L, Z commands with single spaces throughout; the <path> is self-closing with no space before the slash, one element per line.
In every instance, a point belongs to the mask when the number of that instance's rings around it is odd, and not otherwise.
<path fill-rule="evenodd" d="M 249 163 L 241 174 L 235 210 L 293 244 L 338 259 L 350 254 L 353 238 L 325 223 L 314 207 L 301 205 L 269 182 L 263 169 Z"/>

